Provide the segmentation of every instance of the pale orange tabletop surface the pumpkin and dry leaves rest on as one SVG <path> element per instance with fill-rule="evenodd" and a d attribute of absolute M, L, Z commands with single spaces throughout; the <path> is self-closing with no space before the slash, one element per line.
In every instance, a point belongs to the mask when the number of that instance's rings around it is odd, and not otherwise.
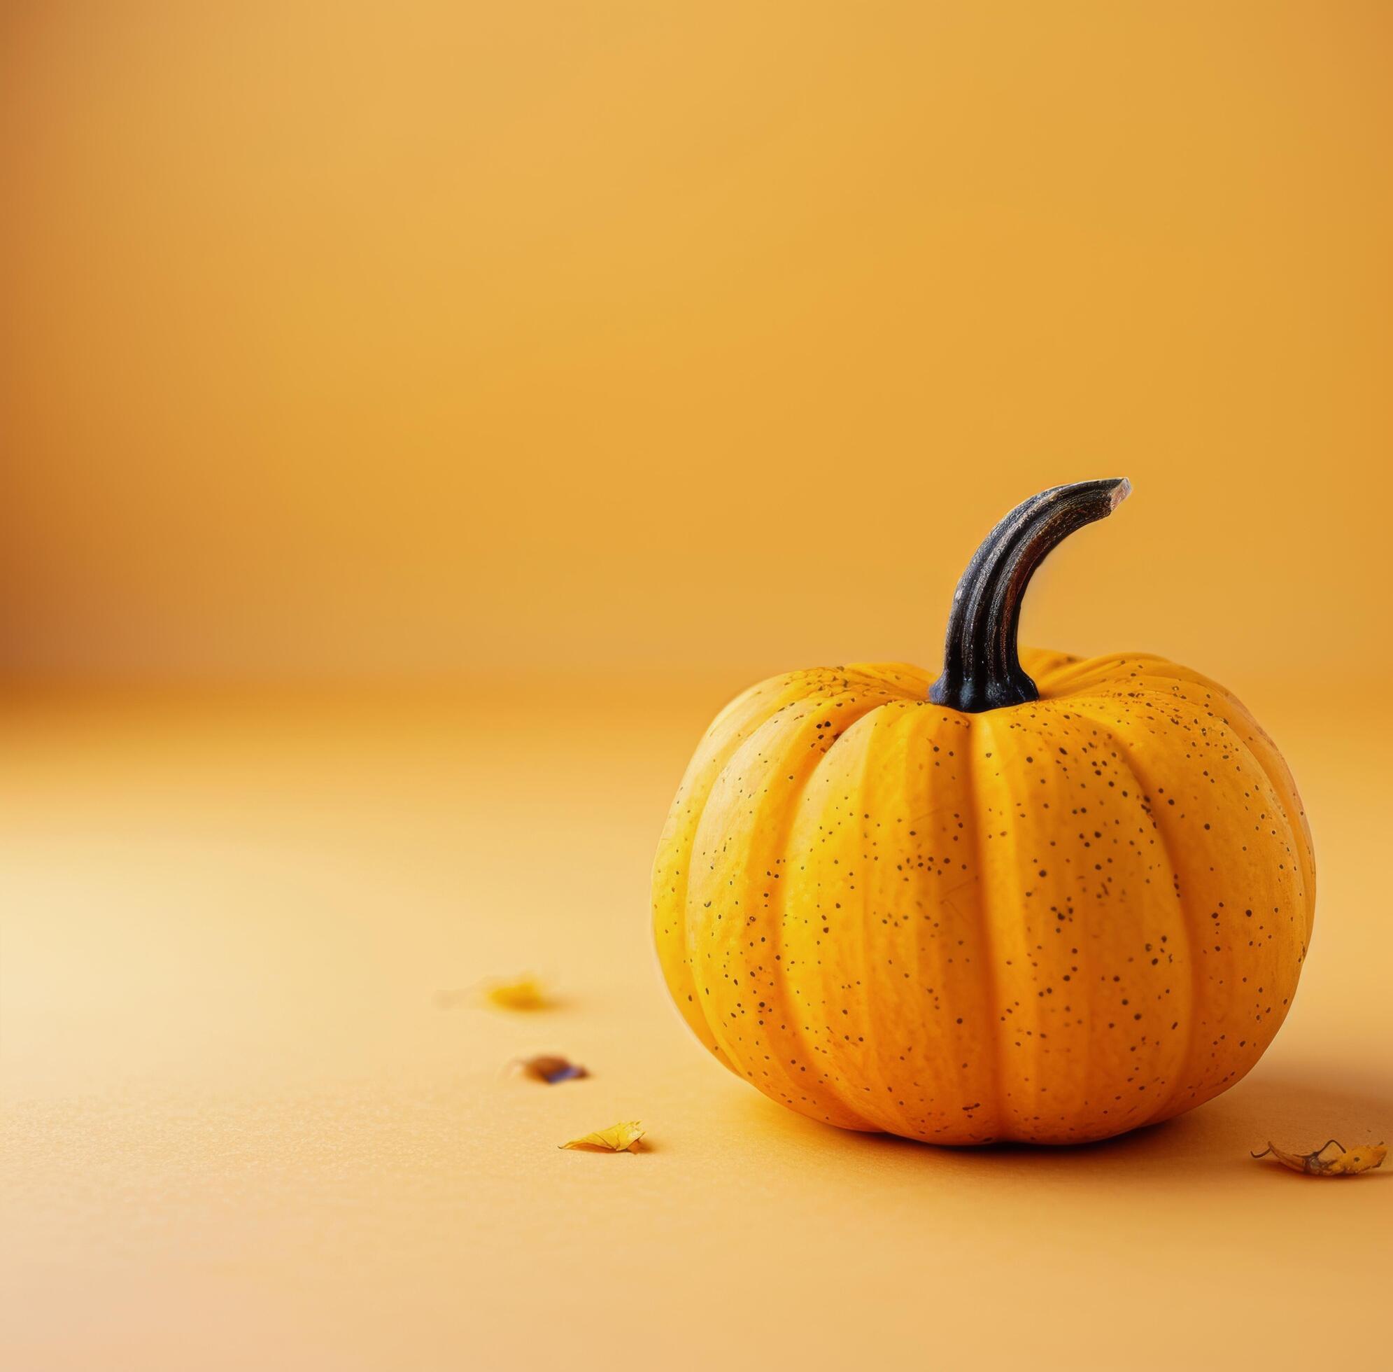
<path fill-rule="evenodd" d="M 11 701 L 0 1364 L 1368 1365 L 1393 1170 L 1248 1152 L 1393 1135 L 1378 715 L 1241 689 L 1321 881 L 1251 1076 L 943 1150 L 772 1104 L 667 1001 L 649 863 L 722 693 Z M 552 1008 L 481 1004 L 522 970 Z M 642 1153 L 557 1148 L 628 1118 Z"/>

